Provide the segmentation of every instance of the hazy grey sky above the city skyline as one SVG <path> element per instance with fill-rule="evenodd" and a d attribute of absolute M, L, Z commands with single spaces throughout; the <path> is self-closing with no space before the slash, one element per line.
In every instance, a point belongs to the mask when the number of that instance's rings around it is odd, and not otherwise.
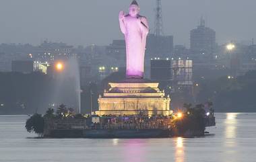
<path fill-rule="evenodd" d="M 110 44 L 123 38 L 118 14 L 131 0 L 0 0 L 0 43 Z M 138 0 L 154 30 L 155 0 Z M 203 15 L 217 41 L 256 38 L 255 0 L 162 0 L 164 32 L 189 47 L 189 31 Z"/>

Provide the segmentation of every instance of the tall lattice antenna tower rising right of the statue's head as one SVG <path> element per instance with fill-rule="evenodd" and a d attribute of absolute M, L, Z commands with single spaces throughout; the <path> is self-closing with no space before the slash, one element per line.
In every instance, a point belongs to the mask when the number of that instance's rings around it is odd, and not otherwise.
<path fill-rule="evenodd" d="M 155 30 L 154 34 L 156 36 L 163 36 L 163 23 L 162 23 L 162 3 L 161 0 L 156 0 L 156 19 L 155 19 Z"/>

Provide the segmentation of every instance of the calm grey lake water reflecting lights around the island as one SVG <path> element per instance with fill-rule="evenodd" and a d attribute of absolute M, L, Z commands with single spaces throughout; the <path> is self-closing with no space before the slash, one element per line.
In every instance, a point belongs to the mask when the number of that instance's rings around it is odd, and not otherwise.
<path fill-rule="evenodd" d="M 256 161 L 256 114 L 216 114 L 201 138 L 36 139 L 27 116 L 0 116 L 0 161 Z"/>

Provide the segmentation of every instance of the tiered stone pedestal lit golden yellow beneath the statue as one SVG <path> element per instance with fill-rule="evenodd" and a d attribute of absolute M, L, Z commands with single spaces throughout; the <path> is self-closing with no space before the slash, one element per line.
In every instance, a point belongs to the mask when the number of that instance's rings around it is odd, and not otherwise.
<path fill-rule="evenodd" d="M 110 88 L 99 97 L 99 116 L 172 114 L 170 97 L 158 88 L 159 83 L 147 79 L 125 79 L 108 83 Z"/>

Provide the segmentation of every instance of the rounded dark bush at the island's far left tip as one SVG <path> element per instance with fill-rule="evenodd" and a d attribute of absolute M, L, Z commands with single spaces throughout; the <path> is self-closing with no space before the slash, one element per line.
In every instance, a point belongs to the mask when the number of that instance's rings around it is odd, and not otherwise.
<path fill-rule="evenodd" d="M 42 115 L 36 113 L 28 118 L 25 127 L 28 132 L 35 132 L 42 136 L 44 132 L 44 118 L 42 118 Z"/>

